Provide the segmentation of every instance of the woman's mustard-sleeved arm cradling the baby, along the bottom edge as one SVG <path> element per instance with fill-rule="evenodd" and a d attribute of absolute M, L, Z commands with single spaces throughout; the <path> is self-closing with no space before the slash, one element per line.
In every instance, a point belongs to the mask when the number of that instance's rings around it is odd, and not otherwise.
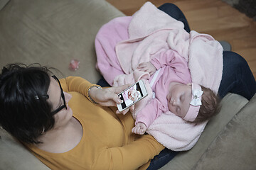
<path fill-rule="evenodd" d="M 100 152 L 92 169 L 138 169 L 164 149 L 151 135 L 123 147 L 106 148 Z"/>

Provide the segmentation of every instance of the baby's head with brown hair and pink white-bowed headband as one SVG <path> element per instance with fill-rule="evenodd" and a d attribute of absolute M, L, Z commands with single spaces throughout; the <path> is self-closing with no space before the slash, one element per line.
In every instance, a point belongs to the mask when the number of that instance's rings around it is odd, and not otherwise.
<path fill-rule="evenodd" d="M 170 84 L 167 100 L 172 113 L 193 123 L 209 120 L 220 108 L 218 96 L 198 84 Z"/>

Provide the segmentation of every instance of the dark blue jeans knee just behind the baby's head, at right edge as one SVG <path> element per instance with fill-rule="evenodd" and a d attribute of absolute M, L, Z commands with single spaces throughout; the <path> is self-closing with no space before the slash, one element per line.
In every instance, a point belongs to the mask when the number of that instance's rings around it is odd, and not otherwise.
<path fill-rule="evenodd" d="M 246 60 L 235 52 L 223 52 L 223 77 L 218 94 L 234 93 L 248 100 L 256 93 L 256 82 Z"/>

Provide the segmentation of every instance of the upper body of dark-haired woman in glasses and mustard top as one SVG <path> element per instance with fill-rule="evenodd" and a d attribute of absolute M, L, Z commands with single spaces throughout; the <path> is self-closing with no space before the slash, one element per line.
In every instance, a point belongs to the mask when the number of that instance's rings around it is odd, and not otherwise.
<path fill-rule="evenodd" d="M 50 169 L 146 169 L 164 149 L 132 134 L 132 115 L 116 114 L 117 94 L 80 77 L 58 80 L 46 67 L 11 64 L 0 78 L 0 125 Z M 95 105 L 99 103 L 99 105 Z"/>

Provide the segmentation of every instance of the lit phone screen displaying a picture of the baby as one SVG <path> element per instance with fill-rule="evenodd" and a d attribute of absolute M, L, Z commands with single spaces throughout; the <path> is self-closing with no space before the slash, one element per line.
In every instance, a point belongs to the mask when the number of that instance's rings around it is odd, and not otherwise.
<path fill-rule="evenodd" d="M 142 89 L 139 86 L 139 82 L 119 94 L 119 98 L 123 101 L 121 103 L 122 109 L 131 106 L 133 103 L 139 101 L 139 99 L 143 97 L 144 96 L 142 93 Z"/>

